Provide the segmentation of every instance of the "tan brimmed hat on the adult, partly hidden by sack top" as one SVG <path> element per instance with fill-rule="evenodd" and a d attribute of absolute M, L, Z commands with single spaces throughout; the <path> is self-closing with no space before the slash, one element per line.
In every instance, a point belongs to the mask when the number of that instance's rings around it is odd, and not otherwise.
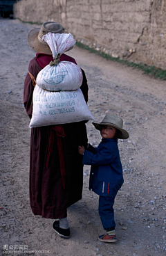
<path fill-rule="evenodd" d="M 52 54 L 50 47 L 42 40 L 46 33 L 64 33 L 63 27 L 57 22 L 45 22 L 41 28 L 33 29 L 28 33 L 28 44 L 34 51 L 42 54 Z"/>

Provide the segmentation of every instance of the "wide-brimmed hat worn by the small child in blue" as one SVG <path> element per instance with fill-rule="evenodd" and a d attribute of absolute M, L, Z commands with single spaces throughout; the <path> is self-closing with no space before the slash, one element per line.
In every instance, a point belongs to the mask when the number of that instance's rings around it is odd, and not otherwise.
<path fill-rule="evenodd" d="M 109 125 L 121 131 L 119 138 L 129 138 L 129 133 L 122 129 L 123 120 L 118 115 L 107 113 L 102 122 L 93 122 L 96 129 L 101 130 L 103 125 Z"/>

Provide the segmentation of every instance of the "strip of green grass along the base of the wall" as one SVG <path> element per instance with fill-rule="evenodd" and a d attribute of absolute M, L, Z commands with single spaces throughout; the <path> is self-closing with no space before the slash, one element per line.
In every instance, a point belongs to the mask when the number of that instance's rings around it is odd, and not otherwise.
<path fill-rule="evenodd" d="M 133 63 L 133 62 L 129 62 L 127 60 L 123 60 L 120 58 L 113 58 L 109 54 L 105 54 L 103 51 L 97 51 L 95 49 L 90 48 L 89 46 L 82 44 L 82 42 L 77 42 L 76 45 L 77 45 L 77 47 L 86 49 L 86 50 L 92 52 L 93 54 L 98 54 L 98 55 L 102 56 L 103 58 L 106 58 L 107 60 L 116 61 L 118 63 L 127 65 L 128 67 L 135 67 L 138 70 L 142 70 L 144 74 L 148 74 L 151 77 L 159 78 L 161 80 L 166 80 L 166 70 L 162 70 L 158 67 L 149 66 L 149 65 L 146 65 L 143 63 Z"/>

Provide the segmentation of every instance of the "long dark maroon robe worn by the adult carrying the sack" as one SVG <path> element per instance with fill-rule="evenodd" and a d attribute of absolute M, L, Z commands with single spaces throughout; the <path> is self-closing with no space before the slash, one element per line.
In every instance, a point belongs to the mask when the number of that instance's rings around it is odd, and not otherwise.
<path fill-rule="evenodd" d="M 46 54 L 37 54 L 30 61 L 29 72 L 37 77 L 40 70 L 53 57 Z M 75 60 L 66 54 L 62 54 L 60 61 Z M 84 98 L 88 100 L 87 80 L 82 70 L 83 82 L 80 87 Z M 33 82 L 27 74 L 24 83 L 24 106 L 28 116 L 33 113 Z M 42 215 L 44 218 L 65 218 L 67 207 L 73 205 L 82 198 L 83 166 L 82 155 L 78 153 L 78 146 L 87 145 L 85 122 L 74 122 L 62 125 L 66 136 L 60 137 L 62 141 L 65 164 L 65 189 L 62 184 L 62 175 L 59 164 L 59 151 L 57 136 L 53 141 L 53 153 L 50 154 L 48 168 L 46 158 L 48 154 L 48 140 L 50 138 L 50 126 L 31 128 L 30 138 L 30 206 L 33 214 Z"/>

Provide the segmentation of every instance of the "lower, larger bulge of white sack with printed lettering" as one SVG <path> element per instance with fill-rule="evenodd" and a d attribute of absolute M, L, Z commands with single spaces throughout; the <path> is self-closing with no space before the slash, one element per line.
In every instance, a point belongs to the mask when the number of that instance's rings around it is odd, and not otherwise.
<path fill-rule="evenodd" d="M 35 86 L 30 128 L 83 120 L 94 120 L 94 118 L 86 105 L 80 88 L 72 92 L 48 92 Z"/>

